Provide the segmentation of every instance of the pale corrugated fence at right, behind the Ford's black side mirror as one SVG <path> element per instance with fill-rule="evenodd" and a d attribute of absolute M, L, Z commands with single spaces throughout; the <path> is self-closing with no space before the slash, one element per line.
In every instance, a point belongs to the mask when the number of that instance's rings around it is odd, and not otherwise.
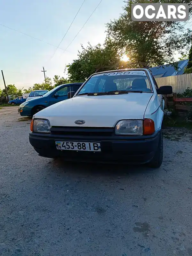
<path fill-rule="evenodd" d="M 192 89 L 192 73 L 178 76 L 166 76 L 155 78 L 158 86 L 171 85 L 173 92 L 182 93 L 188 87 Z"/>

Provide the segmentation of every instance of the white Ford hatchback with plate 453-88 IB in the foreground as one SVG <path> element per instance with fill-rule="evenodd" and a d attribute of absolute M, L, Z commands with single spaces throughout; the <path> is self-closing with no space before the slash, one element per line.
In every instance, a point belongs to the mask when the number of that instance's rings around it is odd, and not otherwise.
<path fill-rule="evenodd" d="M 148 68 L 92 74 L 68 100 L 33 116 L 29 141 L 39 156 L 149 163 L 163 160 L 162 94 Z"/>

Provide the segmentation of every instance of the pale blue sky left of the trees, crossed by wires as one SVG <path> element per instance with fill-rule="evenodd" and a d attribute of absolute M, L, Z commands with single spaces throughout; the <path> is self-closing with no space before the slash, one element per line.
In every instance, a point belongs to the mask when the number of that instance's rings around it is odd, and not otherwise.
<path fill-rule="evenodd" d="M 85 0 L 60 48 L 66 49 L 100 0 Z M 0 0 L 0 24 L 58 46 L 83 0 Z M 6 84 L 28 88 L 46 76 L 64 76 L 65 65 L 77 57 L 81 44 L 103 43 L 105 23 L 118 18 L 123 0 L 102 0 L 66 52 L 9 28 L 0 26 L 0 69 Z M 0 74 L 0 88 L 4 88 Z"/>

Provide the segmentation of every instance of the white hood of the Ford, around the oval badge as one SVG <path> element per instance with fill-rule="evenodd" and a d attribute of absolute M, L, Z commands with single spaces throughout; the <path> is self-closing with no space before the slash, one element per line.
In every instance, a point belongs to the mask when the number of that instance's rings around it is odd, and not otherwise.
<path fill-rule="evenodd" d="M 51 126 L 113 127 L 122 119 L 143 119 L 152 95 L 76 96 L 43 109 L 35 118 L 48 119 Z M 84 120 L 85 124 L 77 125 L 76 120 Z"/>

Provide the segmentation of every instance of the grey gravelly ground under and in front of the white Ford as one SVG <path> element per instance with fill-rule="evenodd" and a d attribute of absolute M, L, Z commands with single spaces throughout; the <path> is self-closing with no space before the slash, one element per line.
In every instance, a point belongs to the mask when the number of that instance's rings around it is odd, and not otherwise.
<path fill-rule="evenodd" d="M 192 255 L 192 140 L 167 130 L 161 168 L 37 156 L 29 118 L 0 109 L 0 255 Z"/>

